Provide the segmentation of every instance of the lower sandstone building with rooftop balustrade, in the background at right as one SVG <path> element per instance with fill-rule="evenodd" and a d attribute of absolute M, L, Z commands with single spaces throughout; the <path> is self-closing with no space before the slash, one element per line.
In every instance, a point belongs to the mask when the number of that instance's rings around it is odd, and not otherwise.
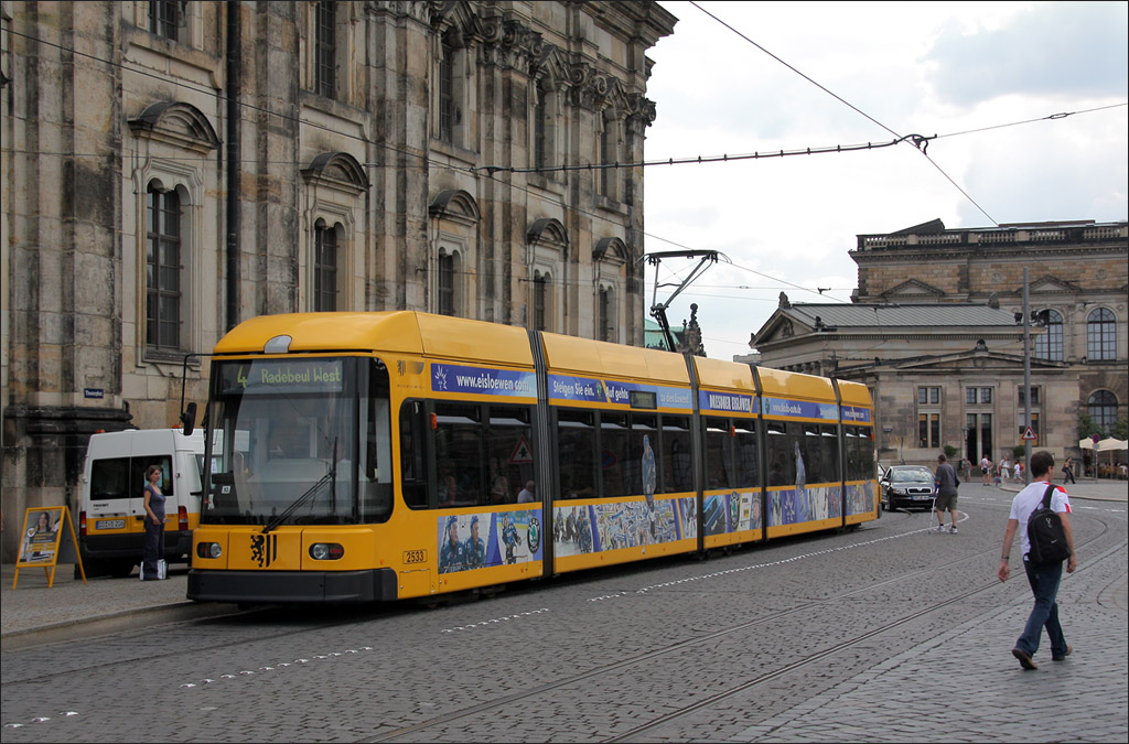
<path fill-rule="evenodd" d="M 1129 224 L 933 220 L 859 235 L 850 255 L 852 304 L 781 296 L 750 345 L 762 365 L 869 386 L 882 462 L 934 464 L 945 445 L 998 462 L 1029 427 L 1080 457 L 1080 414 L 1108 434 L 1129 415 Z"/>

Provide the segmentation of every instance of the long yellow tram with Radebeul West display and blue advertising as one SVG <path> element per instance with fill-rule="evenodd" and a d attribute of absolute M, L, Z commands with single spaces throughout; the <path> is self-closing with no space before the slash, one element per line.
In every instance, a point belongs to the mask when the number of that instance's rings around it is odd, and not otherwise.
<path fill-rule="evenodd" d="M 877 518 L 865 386 L 413 312 L 216 345 L 187 595 L 430 597 Z"/>

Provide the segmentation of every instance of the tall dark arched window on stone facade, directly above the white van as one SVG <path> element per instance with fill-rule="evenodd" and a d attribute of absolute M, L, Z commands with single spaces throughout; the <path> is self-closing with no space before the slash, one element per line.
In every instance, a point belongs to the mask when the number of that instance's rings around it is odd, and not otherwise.
<path fill-rule="evenodd" d="M 181 198 L 159 181 L 146 196 L 146 345 L 181 348 Z"/>

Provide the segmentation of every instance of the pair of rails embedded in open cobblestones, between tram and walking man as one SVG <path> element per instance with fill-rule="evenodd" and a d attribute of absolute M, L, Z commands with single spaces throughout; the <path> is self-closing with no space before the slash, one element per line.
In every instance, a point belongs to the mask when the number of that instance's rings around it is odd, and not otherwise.
<path fill-rule="evenodd" d="M 1109 524 L 1104 519 L 1102 519 L 1101 517 L 1088 517 L 1088 518 L 1092 519 L 1092 520 L 1094 520 L 1094 522 L 1096 522 L 1097 524 L 1100 524 L 1101 525 L 1101 531 L 1097 532 L 1094 535 L 1087 536 L 1085 541 L 1083 541 L 1082 543 L 1079 543 L 1076 546 L 1078 549 L 1084 549 L 1086 545 L 1093 544 L 1094 542 L 1096 542 L 1100 539 L 1102 539 L 1109 532 L 1109 528 L 1110 528 Z M 913 531 L 913 532 L 918 532 L 918 531 Z M 1078 568 L 1078 571 L 1093 570 L 1093 568 L 1096 567 L 1100 561 L 1109 559 L 1111 555 L 1113 555 L 1114 553 L 1117 553 L 1117 551 L 1120 550 L 1123 546 L 1123 544 L 1124 543 L 1120 543 L 1118 545 L 1109 548 L 1109 549 L 1104 550 L 1100 555 L 1088 559 L 1087 562 L 1083 563 Z M 755 629 L 759 625 L 765 625 L 765 624 L 770 624 L 770 623 L 773 623 L 773 622 L 779 622 L 781 620 L 787 620 L 791 615 L 807 614 L 807 613 L 811 613 L 813 610 L 816 610 L 819 607 L 824 607 L 824 606 L 829 606 L 829 605 L 833 605 L 833 604 L 840 603 L 840 602 L 842 602 L 844 599 L 851 598 L 852 596 L 861 595 L 861 594 L 866 594 L 866 593 L 873 592 L 875 588 L 881 588 L 882 586 L 885 586 L 885 585 L 898 584 L 898 583 L 902 583 L 902 581 L 907 581 L 907 580 L 918 580 L 918 579 L 920 579 L 924 576 L 935 575 L 937 572 L 949 571 L 949 570 L 952 570 L 952 569 L 954 569 L 956 567 L 960 567 L 963 563 L 968 563 L 970 561 L 974 562 L 977 560 L 982 560 L 982 558 L 983 558 L 984 554 L 987 554 L 987 553 L 992 553 L 994 554 L 996 552 L 996 550 L 997 550 L 997 548 L 994 546 L 994 548 L 988 549 L 988 550 L 978 551 L 977 553 L 973 553 L 971 555 L 964 555 L 964 557 L 962 557 L 962 558 L 960 558 L 957 560 L 951 560 L 951 561 L 947 561 L 947 562 L 942 563 L 942 564 L 930 566 L 928 568 L 918 569 L 918 570 L 911 571 L 909 574 L 903 574 L 903 575 L 901 575 L 899 577 L 890 578 L 890 579 L 885 579 L 885 580 L 879 580 L 879 581 L 873 581 L 873 583 L 867 584 L 866 586 L 857 587 L 857 588 L 850 589 L 849 592 L 843 592 L 843 593 L 837 594 L 837 595 L 834 595 L 832 597 L 826 597 L 824 599 L 819 599 L 819 601 L 815 601 L 815 602 L 808 602 L 808 603 L 805 603 L 805 604 L 799 605 L 799 606 L 789 607 L 788 610 L 784 610 L 784 611 L 779 611 L 779 612 L 773 612 L 773 613 L 770 613 L 768 615 L 760 616 L 760 618 L 756 618 L 754 620 L 750 620 L 747 622 L 737 623 L 737 624 L 730 625 L 728 628 L 723 628 L 723 629 L 715 630 L 715 631 L 711 631 L 711 632 L 708 632 L 708 633 L 704 633 L 704 634 L 701 634 L 701 636 L 695 636 L 694 638 L 685 639 L 683 641 L 680 641 L 680 642 L 676 642 L 676 644 L 672 644 L 669 646 L 665 646 L 665 647 L 663 647 L 660 649 L 655 649 L 655 650 L 647 651 L 647 653 L 644 653 L 644 654 L 638 654 L 638 655 L 632 656 L 630 658 L 619 659 L 616 662 L 602 665 L 602 666 L 599 666 L 597 668 L 588 669 L 588 671 L 586 671 L 584 673 L 580 673 L 580 674 L 575 674 L 575 675 L 571 675 L 571 676 L 568 676 L 568 677 L 564 677 L 564 679 L 561 679 L 561 680 L 557 680 L 554 682 L 550 682 L 550 683 L 545 683 L 545 684 L 537 685 L 537 686 L 534 686 L 534 688 L 530 688 L 530 689 L 523 690 L 519 693 L 515 693 L 515 694 L 511 694 L 511 695 L 504 695 L 501 698 L 497 698 L 495 700 L 490 700 L 489 702 L 482 702 L 482 703 L 478 703 L 478 704 L 474 704 L 474 706 L 467 706 L 467 707 L 462 708 L 460 710 L 455 710 L 455 711 L 450 711 L 450 712 L 443 714 L 443 715 L 439 715 L 439 716 L 435 716 L 432 718 L 429 718 L 428 720 L 422 720 L 422 721 L 418 721 L 415 724 L 411 724 L 409 726 L 401 727 L 401 728 L 399 728 L 396 730 L 388 732 L 388 733 L 383 734 L 380 736 L 376 736 L 376 737 L 373 737 L 373 738 L 362 738 L 362 739 L 358 739 L 358 741 L 359 742 L 365 742 L 365 743 L 377 743 L 377 742 L 396 741 L 396 739 L 400 739 L 400 738 L 403 738 L 403 737 L 408 737 L 408 736 L 412 736 L 412 735 L 417 735 L 417 734 L 426 734 L 431 728 L 437 728 L 437 727 L 444 727 L 444 728 L 446 728 L 446 727 L 449 727 L 449 725 L 452 723 L 457 721 L 458 719 L 462 719 L 462 718 L 467 718 L 467 717 L 473 717 L 473 716 L 478 716 L 478 715 L 489 714 L 490 711 L 496 710 L 496 709 L 505 709 L 505 708 L 515 707 L 515 706 L 519 707 L 524 702 L 530 702 L 532 704 L 532 701 L 535 701 L 539 698 L 548 695 L 548 694 L 552 693 L 553 691 L 561 690 L 561 689 L 564 689 L 564 688 L 570 688 L 572 685 L 576 685 L 576 684 L 579 684 L 579 683 L 584 683 L 584 682 L 590 682 L 590 681 L 597 680 L 597 679 L 599 679 L 602 676 L 610 676 L 610 675 L 613 675 L 615 673 L 622 672 L 623 669 L 630 668 L 632 666 L 637 666 L 637 665 L 640 665 L 640 664 L 646 664 L 648 662 L 660 659 L 660 658 L 663 658 L 665 656 L 684 651 L 688 648 L 692 648 L 694 646 L 709 645 L 709 644 L 712 644 L 712 642 L 717 641 L 718 639 L 725 638 L 727 636 L 733 636 L 733 634 L 736 634 L 736 633 L 747 632 L 749 630 Z M 828 659 L 831 656 L 840 654 L 840 653 L 842 653 L 844 650 L 848 650 L 848 649 L 850 649 L 852 647 L 857 647 L 859 645 L 863 645 L 866 641 L 868 641 L 868 640 L 870 640 L 870 639 L 873 639 L 873 638 L 875 638 L 877 636 L 882 636 L 883 633 L 890 632 L 891 630 L 899 628 L 900 625 L 904 625 L 904 624 L 911 623 L 911 622 L 913 622 L 916 620 L 919 620 L 919 619 L 921 619 L 924 616 L 929 615 L 930 613 L 937 612 L 938 610 L 942 610 L 944 607 L 947 607 L 947 606 L 951 606 L 951 605 L 954 605 L 954 604 L 959 604 L 959 603 L 961 603 L 961 602 L 963 602 L 963 601 L 965 601 L 965 599 L 968 599 L 970 597 L 973 597 L 975 595 L 979 595 L 979 594 L 981 594 L 983 592 L 987 592 L 987 590 L 990 590 L 992 588 L 998 588 L 998 586 L 999 586 L 998 581 L 986 581 L 986 583 L 979 584 L 979 585 L 977 585 L 977 586 L 974 586 L 974 587 L 972 587 L 972 588 L 970 588 L 970 589 L 968 589 L 965 592 L 962 592 L 962 593 L 960 593 L 960 594 L 957 594 L 955 596 L 949 596 L 949 597 L 946 597 L 943 601 L 933 602 L 928 606 L 921 607 L 921 609 L 919 609 L 919 610 L 917 610 L 914 612 L 911 612 L 911 613 L 905 614 L 905 615 L 903 615 L 901 618 L 892 620 L 892 621 L 890 621 L 887 623 L 884 623 L 884 624 L 882 624 L 882 625 L 879 625 L 877 628 L 870 628 L 866 632 L 858 633 L 857 636 L 854 636 L 852 638 L 848 638 L 848 639 L 846 639 L 846 640 L 837 644 L 834 647 L 825 648 L 825 649 L 822 649 L 820 651 L 816 651 L 816 653 L 813 653 L 813 654 L 808 654 L 807 656 L 804 656 L 803 658 L 796 659 L 794 662 L 789 662 L 788 664 L 785 664 L 784 666 L 781 666 L 779 668 L 772 669 L 770 672 L 765 672 L 763 674 L 759 674 L 759 675 L 756 675 L 753 679 L 746 680 L 746 681 L 744 681 L 744 682 L 742 682 L 739 684 L 733 685 L 733 686 L 730 686 L 730 688 L 728 688 L 726 690 L 723 690 L 720 692 L 716 692 L 714 694 L 710 694 L 710 695 L 706 697 L 704 699 L 695 700 L 694 702 L 692 702 L 690 704 L 686 704 L 686 706 L 683 706 L 683 707 L 679 708 L 677 710 L 673 710 L 673 711 L 669 711 L 669 712 L 664 714 L 662 716 L 658 716 L 658 717 L 656 717 L 656 718 L 654 718 L 654 719 L 651 719 L 651 720 L 649 720 L 649 721 L 647 721 L 645 724 L 636 726 L 634 728 L 632 728 L 630 730 L 618 733 L 614 736 L 611 736 L 609 738 L 601 739 L 601 741 L 603 741 L 603 742 L 624 742 L 624 741 L 629 741 L 632 737 L 646 734 L 647 732 L 650 732 L 650 730 L 654 730 L 656 728 L 659 728 L 659 727 L 662 727 L 662 726 L 664 726 L 666 724 L 669 724 L 672 721 L 675 721 L 675 720 L 679 720 L 679 719 L 684 718 L 686 716 L 690 716 L 690 715 L 694 714 L 695 711 L 709 708 L 711 706 L 716 706 L 719 702 L 723 702 L 723 701 L 725 701 L 725 700 L 727 700 L 729 698 L 734 698 L 736 695 L 739 695 L 739 694 L 743 694 L 743 693 L 747 693 L 751 690 L 755 690 L 756 688 L 759 688 L 761 685 L 764 685 L 764 684 L 767 684 L 769 682 L 778 680 L 778 679 L 780 679 L 782 676 L 786 676 L 786 675 L 788 675 L 788 674 L 790 674 L 793 672 L 803 669 L 804 667 L 811 666 L 813 664 L 817 664 L 817 663 L 824 662 L 825 659 Z"/>

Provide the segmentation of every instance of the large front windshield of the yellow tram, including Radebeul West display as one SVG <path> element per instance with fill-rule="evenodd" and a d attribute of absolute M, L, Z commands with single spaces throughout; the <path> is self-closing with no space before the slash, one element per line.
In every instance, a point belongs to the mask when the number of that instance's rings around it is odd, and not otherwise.
<path fill-rule="evenodd" d="M 388 386 L 379 360 L 217 361 L 211 378 L 202 523 L 273 527 L 386 518 Z"/>

